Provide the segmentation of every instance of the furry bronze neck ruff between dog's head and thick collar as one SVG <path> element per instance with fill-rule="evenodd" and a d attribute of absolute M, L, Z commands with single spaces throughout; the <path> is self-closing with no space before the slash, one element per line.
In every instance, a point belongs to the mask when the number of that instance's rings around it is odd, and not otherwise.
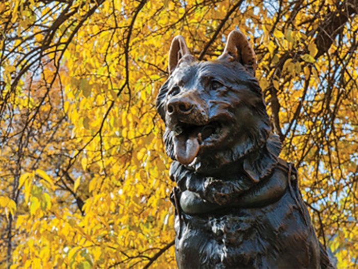
<path fill-rule="evenodd" d="M 175 181 L 181 191 L 190 190 L 204 192 L 208 181 L 221 180 L 237 182 L 237 191 L 250 189 L 260 180 L 270 176 L 278 163 L 281 143 L 274 134 L 259 149 L 249 153 L 235 162 L 225 165 L 219 172 L 204 174 L 174 161 L 170 168 L 170 178 Z"/>

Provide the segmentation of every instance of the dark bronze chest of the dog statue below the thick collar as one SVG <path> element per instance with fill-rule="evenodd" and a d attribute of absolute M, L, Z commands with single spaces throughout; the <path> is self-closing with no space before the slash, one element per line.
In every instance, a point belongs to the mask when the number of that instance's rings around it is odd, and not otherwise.
<path fill-rule="evenodd" d="M 304 211 L 302 211 L 304 210 Z M 260 209 L 231 209 L 222 216 L 176 216 L 180 268 L 317 267 L 307 212 L 289 191 Z M 181 221 L 180 221 L 181 219 Z M 285 221 L 283 221 L 285 220 Z M 285 252 L 284 258 L 282 252 Z M 290 257 L 287 259 L 287 257 Z M 184 266 L 185 265 L 185 266 Z"/>

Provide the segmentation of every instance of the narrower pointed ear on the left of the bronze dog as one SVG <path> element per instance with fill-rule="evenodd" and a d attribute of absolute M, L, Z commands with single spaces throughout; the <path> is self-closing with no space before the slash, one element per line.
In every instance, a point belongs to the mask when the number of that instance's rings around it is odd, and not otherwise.
<path fill-rule="evenodd" d="M 183 60 L 193 60 L 193 56 L 190 54 L 188 46 L 184 40 L 184 37 L 177 35 L 174 37 L 171 42 L 169 50 L 169 74 L 171 74 L 174 69 L 180 64 Z"/>

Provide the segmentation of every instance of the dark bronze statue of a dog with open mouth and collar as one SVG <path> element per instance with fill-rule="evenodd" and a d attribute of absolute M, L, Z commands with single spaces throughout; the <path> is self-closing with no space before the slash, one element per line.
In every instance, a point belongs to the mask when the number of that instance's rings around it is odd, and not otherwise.
<path fill-rule="evenodd" d="M 171 199 L 180 268 L 333 268 L 298 189 L 278 158 L 255 78 L 256 56 L 238 30 L 215 60 L 173 39 L 156 107 L 174 160 Z"/>

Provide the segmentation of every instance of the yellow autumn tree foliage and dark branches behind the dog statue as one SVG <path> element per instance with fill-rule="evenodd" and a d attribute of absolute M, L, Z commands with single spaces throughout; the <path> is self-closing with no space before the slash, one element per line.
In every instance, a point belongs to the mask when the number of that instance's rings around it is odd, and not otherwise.
<path fill-rule="evenodd" d="M 317 235 L 358 264 L 356 0 L 0 3 L 0 265 L 175 267 L 155 97 L 172 38 L 215 58 L 238 27 Z"/>

